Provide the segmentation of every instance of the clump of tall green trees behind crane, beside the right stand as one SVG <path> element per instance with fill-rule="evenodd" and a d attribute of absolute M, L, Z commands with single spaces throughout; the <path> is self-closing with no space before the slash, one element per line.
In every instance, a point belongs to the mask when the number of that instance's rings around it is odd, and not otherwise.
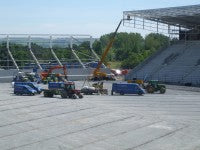
<path fill-rule="evenodd" d="M 101 55 L 112 33 L 106 34 L 93 44 L 94 50 Z M 158 49 L 169 44 L 169 38 L 162 34 L 151 33 L 142 37 L 139 33 L 118 33 L 111 50 L 106 58 L 107 62 L 121 62 L 121 68 L 132 69 Z"/>

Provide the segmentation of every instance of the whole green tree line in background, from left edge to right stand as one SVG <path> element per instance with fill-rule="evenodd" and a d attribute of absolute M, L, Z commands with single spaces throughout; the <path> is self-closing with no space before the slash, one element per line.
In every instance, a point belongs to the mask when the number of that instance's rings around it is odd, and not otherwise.
<path fill-rule="evenodd" d="M 113 33 L 103 35 L 98 40 L 94 41 L 93 49 L 99 56 L 101 56 L 105 50 L 112 34 Z M 169 38 L 162 34 L 151 33 L 143 37 L 139 33 L 121 32 L 117 34 L 113 46 L 106 57 L 105 63 L 119 62 L 121 64 L 119 67 L 131 69 L 156 52 L 156 50 L 168 45 L 168 43 Z M 42 47 L 35 43 L 32 43 L 31 47 L 38 60 L 54 60 L 49 48 Z M 92 56 L 89 41 L 83 42 L 79 45 L 74 44 L 73 47 L 75 50 L 77 50 L 78 56 L 82 60 L 87 60 L 89 59 L 88 56 Z M 54 46 L 53 49 L 60 60 L 67 61 L 74 59 L 69 45 L 65 48 Z M 10 50 L 14 58 L 19 60 L 19 65 L 24 65 L 26 63 L 26 61 L 20 60 L 33 60 L 28 51 L 27 45 L 11 43 Z M 10 58 L 6 50 L 6 43 L 1 43 L 0 60 L 7 59 Z M 12 65 L 12 63 L 10 64 Z M 6 61 L 1 61 L 0 65 L 6 66 Z"/>

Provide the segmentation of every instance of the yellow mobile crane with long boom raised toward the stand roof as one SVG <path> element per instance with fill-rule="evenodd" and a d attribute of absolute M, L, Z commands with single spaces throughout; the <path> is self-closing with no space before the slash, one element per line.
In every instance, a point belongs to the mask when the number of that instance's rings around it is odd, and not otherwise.
<path fill-rule="evenodd" d="M 105 51 L 103 52 L 102 56 L 101 56 L 101 59 L 100 61 L 98 62 L 98 65 L 96 67 L 96 69 L 93 71 L 93 74 L 92 74 L 92 78 L 91 80 L 94 80 L 94 81 L 100 81 L 100 80 L 115 80 L 115 78 L 113 76 L 108 76 L 105 72 L 101 72 L 100 69 L 101 69 L 101 65 L 103 64 L 110 48 L 112 47 L 113 43 L 114 43 L 114 40 L 115 40 L 115 37 L 117 35 L 117 31 L 119 29 L 119 27 L 121 26 L 123 20 L 121 20 L 115 30 L 115 32 L 113 33 L 112 37 L 111 37 L 111 40 L 110 42 L 108 43 Z"/>

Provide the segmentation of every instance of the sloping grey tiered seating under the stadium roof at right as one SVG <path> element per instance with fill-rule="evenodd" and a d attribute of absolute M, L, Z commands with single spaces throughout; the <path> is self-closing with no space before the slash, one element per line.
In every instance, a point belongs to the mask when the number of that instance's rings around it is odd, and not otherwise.
<path fill-rule="evenodd" d="M 126 79 L 155 79 L 175 84 L 199 85 L 199 74 L 200 42 L 179 41 L 148 58 L 130 71 Z"/>

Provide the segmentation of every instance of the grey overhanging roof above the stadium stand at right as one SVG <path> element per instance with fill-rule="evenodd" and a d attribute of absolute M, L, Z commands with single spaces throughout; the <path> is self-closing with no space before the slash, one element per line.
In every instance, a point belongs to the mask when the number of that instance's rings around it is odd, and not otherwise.
<path fill-rule="evenodd" d="M 200 5 L 124 11 L 124 16 L 191 28 L 200 26 Z"/>

